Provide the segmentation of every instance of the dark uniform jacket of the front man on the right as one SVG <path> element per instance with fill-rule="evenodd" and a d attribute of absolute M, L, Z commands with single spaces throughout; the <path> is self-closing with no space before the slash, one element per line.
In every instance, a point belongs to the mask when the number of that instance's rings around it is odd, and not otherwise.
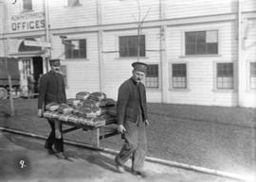
<path fill-rule="evenodd" d="M 148 119 L 146 90 L 142 83 L 137 83 L 133 77 L 124 81 L 119 87 L 117 103 L 118 123 L 124 121 L 137 122 L 139 114 L 142 120 Z"/>

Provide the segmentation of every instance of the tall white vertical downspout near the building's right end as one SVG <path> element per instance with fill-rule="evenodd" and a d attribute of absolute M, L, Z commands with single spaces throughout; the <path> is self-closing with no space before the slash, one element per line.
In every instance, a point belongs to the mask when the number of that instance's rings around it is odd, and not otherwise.
<path fill-rule="evenodd" d="M 243 107 L 243 60 L 242 60 L 242 4 L 241 0 L 237 0 L 237 106 Z"/>

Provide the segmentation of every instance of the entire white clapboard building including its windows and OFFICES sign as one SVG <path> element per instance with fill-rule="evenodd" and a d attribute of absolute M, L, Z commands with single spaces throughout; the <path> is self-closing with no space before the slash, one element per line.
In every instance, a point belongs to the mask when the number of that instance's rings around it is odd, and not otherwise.
<path fill-rule="evenodd" d="M 149 102 L 256 107 L 255 0 L 0 0 L 0 15 L 0 57 L 24 80 L 61 58 L 68 97 L 117 99 L 139 55 Z"/>

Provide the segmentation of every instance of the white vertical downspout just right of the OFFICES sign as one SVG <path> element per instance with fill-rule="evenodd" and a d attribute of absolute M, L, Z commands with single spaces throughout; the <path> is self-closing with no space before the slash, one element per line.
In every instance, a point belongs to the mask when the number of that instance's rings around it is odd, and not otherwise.
<path fill-rule="evenodd" d="M 46 13 L 46 42 L 50 42 L 49 37 L 49 6 L 48 6 L 48 0 L 45 0 L 45 13 Z M 48 58 L 50 58 L 51 48 L 44 48 L 45 49 L 45 64 L 46 64 L 46 72 L 48 72 Z"/>

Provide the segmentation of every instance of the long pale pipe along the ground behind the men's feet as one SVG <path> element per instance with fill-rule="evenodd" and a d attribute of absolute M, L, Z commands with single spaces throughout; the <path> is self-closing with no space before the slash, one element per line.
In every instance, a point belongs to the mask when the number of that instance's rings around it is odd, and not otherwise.
<path fill-rule="evenodd" d="M 0 131 L 18 134 L 18 135 L 22 135 L 22 136 L 26 136 L 26 137 L 32 137 L 32 138 L 41 139 L 41 140 L 46 140 L 46 137 L 42 136 L 42 135 L 37 135 L 37 134 L 28 133 L 28 132 L 24 132 L 24 131 L 16 130 L 16 129 L 10 129 L 10 128 L 6 128 L 6 127 L 0 127 Z M 76 147 L 82 147 L 82 148 L 86 148 L 86 149 L 90 149 L 90 150 L 101 151 L 101 152 L 112 154 L 112 155 L 117 155 L 119 153 L 119 151 L 115 151 L 113 149 L 103 148 L 103 147 L 95 147 L 93 145 L 89 145 L 89 144 L 85 144 L 85 143 L 77 142 L 77 141 L 64 140 L 64 143 L 73 145 Z M 212 170 L 212 169 L 208 169 L 208 168 L 193 166 L 193 165 L 189 165 L 189 164 L 174 162 L 174 161 L 155 158 L 155 157 L 146 157 L 146 160 L 149 162 L 158 163 L 161 165 L 180 168 L 180 169 L 185 169 L 188 171 L 198 172 L 198 173 L 202 173 L 202 174 L 217 175 L 220 177 L 226 177 L 226 178 L 234 179 L 237 181 L 248 182 L 247 178 L 245 178 L 244 176 L 241 176 L 239 174 L 231 174 L 231 173 L 227 173 L 227 172 Z M 249 182 L 250 182 L 250 180 L 249 180 Z"/>

